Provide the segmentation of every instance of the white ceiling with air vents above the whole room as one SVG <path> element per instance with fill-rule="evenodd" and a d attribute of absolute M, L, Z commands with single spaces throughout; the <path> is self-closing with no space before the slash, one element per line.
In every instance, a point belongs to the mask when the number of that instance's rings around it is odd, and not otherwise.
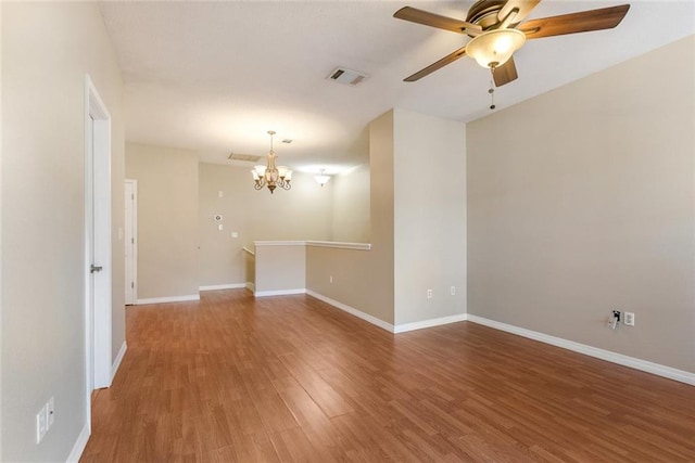
<path fill-rule="evenodd" d="M 528 18 L 621 3 L 544 0 Z M 519 79 L 495 92 L 496 111 L 695 33 L 692 0 L 631 3 L 616 29 L 527 42 L 515 54 Z M 469 57 L 403 82 L 467 37 L 392 17 L 414 5 L 465 18 L 471 4 L 102 2 L 125 81 L 126 139 L 228 164 L 230 152 L 266 154 L 273 129 L 280 164 L 336 173 L 366 160 L 367 125 L 392 107 L 462 121 L 485 116 L 490 74 Z M 327 80 L 337 66 L 369 78 L 357 87 Z"/>

